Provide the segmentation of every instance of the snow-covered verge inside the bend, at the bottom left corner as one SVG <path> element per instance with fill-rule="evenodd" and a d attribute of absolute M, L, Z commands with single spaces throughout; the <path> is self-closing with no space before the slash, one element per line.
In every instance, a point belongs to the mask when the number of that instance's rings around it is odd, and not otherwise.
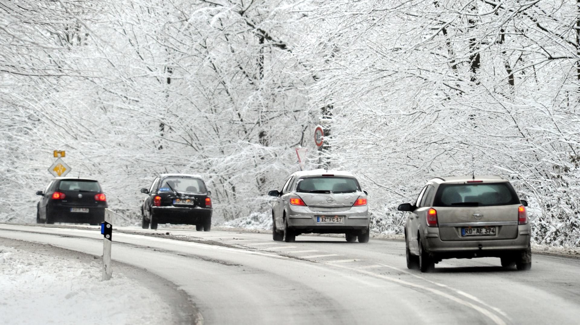
<path fill-rule="evenodd" d="M 160 324 L 171 313 L 136 280 L 113 273 L 102 282 L 101 272 L 100 260 L 89 265 L 0 246 L 0 323 Z"/>

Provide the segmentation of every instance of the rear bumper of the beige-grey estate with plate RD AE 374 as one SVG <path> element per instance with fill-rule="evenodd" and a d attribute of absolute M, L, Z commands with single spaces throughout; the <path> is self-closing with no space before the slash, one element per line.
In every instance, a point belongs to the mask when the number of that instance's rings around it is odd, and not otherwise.
<path fill-rule="evenodd" d="M 502 257 L 530 247 L 530 224 L 519 225 L 516 238 L 441 240 L 437 228 L 423 232 L 423 246 L 439 258 Z"/>

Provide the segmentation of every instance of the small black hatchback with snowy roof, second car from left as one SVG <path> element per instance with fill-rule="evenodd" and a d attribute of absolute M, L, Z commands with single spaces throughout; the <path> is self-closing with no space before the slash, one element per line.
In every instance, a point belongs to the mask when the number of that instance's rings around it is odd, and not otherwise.
<path fill-rule="evenodd" d="M 142 227 L 157 229 L 158 224 L 195 225 L 197 231 L 210 231 L 212 227 L 211 192 L 197 175 L 161 174 L 150 188 L 141 206 Z"/>

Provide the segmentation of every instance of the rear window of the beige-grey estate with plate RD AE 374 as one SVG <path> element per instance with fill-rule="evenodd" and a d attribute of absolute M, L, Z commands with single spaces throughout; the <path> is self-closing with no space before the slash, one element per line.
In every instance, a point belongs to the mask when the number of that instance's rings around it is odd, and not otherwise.
<path fill-rule="evenodd" d="M 517 197 L 509 182 L 441 184 L 433 206 L 498 206 L 517 205 Z"/>

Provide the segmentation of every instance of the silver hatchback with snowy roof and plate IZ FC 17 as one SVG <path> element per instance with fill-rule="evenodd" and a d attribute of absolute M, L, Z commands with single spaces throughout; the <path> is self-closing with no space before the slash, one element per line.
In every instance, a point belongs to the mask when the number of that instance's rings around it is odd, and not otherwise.
<path fill-rule="evenodd" d="M 367 192 L 347 171 L 317 169 L 291 174 L 272 209 L 274 240 L 293 242 L 302 233 L 345 233 L 347 242 L 367 243 Z"/>

